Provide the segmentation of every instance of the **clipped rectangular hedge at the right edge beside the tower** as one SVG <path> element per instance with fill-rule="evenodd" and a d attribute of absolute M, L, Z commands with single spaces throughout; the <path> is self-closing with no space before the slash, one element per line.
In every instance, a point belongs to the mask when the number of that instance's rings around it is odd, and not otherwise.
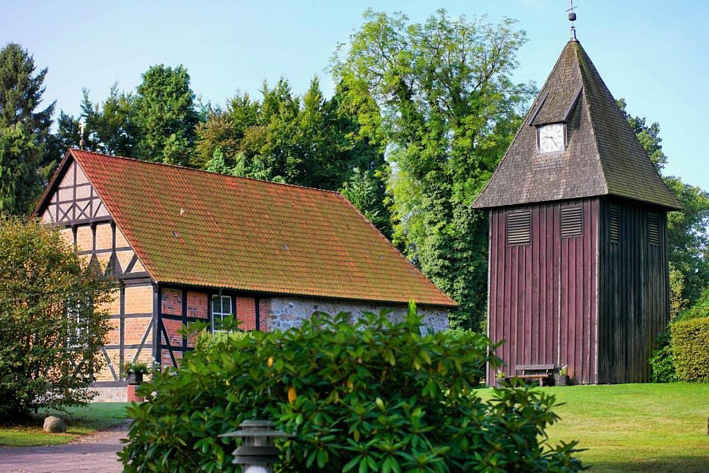
<path fill-rule="evenodd" d="M 709 317 L 670 325 L 676 379 L 709 382 Z"/>

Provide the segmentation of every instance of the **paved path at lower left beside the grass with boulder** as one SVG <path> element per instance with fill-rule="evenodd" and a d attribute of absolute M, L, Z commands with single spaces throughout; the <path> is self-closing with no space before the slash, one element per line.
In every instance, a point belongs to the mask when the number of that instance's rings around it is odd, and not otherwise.
<path fill-rule="evenodd" d="M 0 473 L 122 472 L 116 452 L 127 436 L 123 424 L 66 445 L 0 447 Z"/>

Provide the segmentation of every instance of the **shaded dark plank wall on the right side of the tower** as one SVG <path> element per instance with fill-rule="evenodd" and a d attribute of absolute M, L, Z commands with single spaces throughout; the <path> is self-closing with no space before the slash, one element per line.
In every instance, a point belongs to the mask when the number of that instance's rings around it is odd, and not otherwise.
<path fill-rule="evenodd" d="M 618 243 L 610 241 L 610 206 L 619 210 Z M 659 217 L 659 245 L 647 239 L 648 215 Z M 669 321 L 666 213 L 621 199 L 601 205 L 599 382 L 648 382 L 647 359 Z"/>

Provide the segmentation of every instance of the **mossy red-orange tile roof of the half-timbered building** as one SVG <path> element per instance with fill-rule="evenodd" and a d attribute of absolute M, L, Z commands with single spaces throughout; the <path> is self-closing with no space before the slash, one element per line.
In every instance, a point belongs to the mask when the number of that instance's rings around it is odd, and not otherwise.
<path fill-rule="evenodd" d="M 156 282 L 455 306 L 337 192 L 69 154 Z"/>

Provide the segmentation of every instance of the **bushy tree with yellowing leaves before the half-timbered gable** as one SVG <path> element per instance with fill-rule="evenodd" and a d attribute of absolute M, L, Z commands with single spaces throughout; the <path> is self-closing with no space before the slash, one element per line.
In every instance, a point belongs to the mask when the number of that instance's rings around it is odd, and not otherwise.
<path fill-rule="evenodd" d="M 0 418 L 82 404 L 103 364 L 110 279 L 59 233 L 0 218 Z"/>

